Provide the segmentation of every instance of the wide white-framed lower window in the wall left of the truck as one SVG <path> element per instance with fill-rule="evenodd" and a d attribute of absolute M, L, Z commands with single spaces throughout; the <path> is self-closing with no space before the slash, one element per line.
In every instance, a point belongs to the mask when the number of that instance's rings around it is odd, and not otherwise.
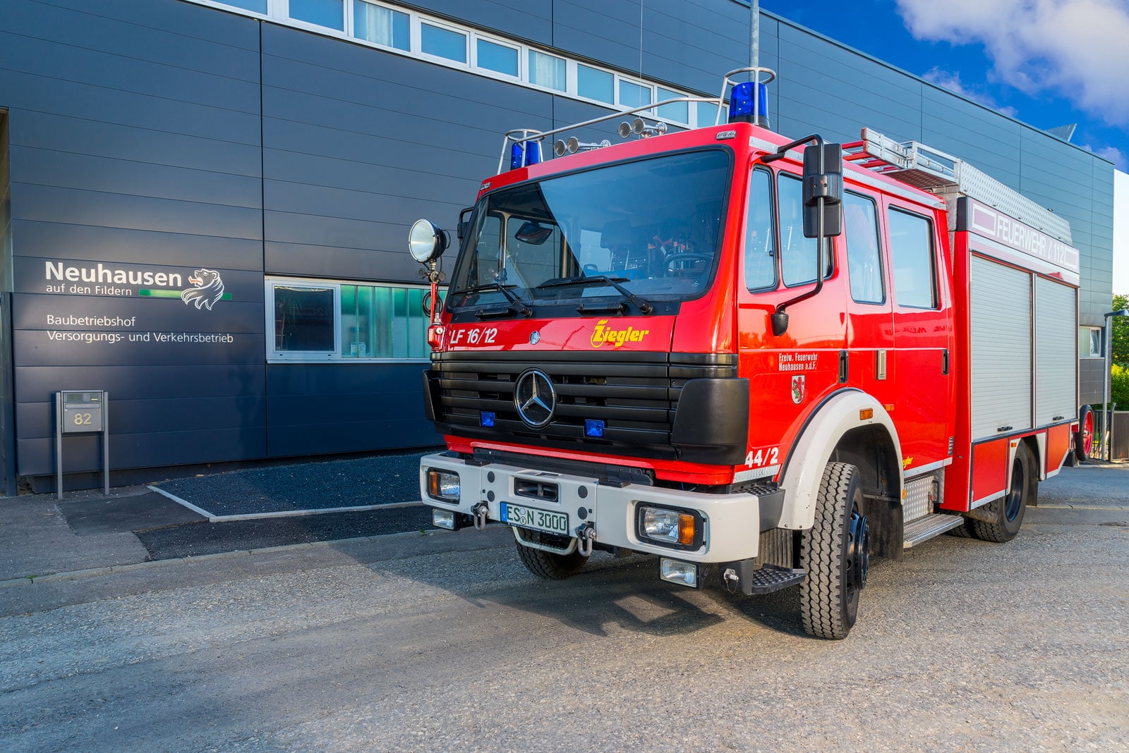
<path fill-rule="evenodd" d="M 419 286 L 268 280 L 268 360 L 426 360 L 426 293 Z"/>

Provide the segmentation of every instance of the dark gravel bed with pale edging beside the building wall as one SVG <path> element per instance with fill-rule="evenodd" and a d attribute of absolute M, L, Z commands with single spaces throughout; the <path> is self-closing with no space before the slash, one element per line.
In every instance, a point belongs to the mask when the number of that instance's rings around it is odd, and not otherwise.
<path fill-rule="evenodd" d="M 247 468 L 154 486 L 217 517 L 365 507 L 418 500 L 420 458 L 425 454 L 428 453 Z"/>

